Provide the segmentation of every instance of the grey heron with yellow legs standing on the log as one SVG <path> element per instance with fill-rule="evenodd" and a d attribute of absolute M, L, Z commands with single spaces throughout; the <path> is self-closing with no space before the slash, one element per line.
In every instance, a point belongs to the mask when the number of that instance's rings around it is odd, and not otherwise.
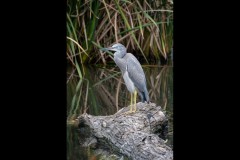
<path fill-rule="evenodd" d="M 114 61 L 120 68 L 127 89 L 131 93 L 131 105 L 130 110 L 127 113 L 136 112 L 137 92 L 140 95 L 142 102 L 149 102 L 146 78 L 141 64 L 134 55 L 127 53 L 127 49 L 120 43 L 114 44 L 109 48 L 103 48 L 102 50 L 115 51 Z M 134 109 L 132 109 L 133 95 Z"/>

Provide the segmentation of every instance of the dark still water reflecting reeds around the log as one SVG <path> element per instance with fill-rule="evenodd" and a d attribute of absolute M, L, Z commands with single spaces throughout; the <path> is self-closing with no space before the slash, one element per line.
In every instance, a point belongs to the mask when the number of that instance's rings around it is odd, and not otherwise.
<path fill-rule="evenodd" d="M 167 145 L 173 145 L 173 71 L 171 66 L 143 66 L 150 101 L 160 105 L 169 118 Z M 83 135 L 74 122 L 85 111 L 91 115 L 111 115 L 130 104 L 130 93 L 115 66 L 84 67 L 79 78 L 77 70 L 68 69 L 67 81 L 67 159 L 127 159 L 109 149 L 81 147 Z M 138 97 L 137 102 L 140 101 Z"/>

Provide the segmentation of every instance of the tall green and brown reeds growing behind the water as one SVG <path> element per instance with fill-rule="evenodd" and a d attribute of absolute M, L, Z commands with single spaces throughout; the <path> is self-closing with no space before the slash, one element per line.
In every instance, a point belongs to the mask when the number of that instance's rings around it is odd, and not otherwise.
<path fill-rule="evenodd" d="M 106 64 L 110 54 L 99 48 L 115 42 L 142 56 L 167 59 L 172 48 L 171 0 L 67 0 L 67 59 Z"/>

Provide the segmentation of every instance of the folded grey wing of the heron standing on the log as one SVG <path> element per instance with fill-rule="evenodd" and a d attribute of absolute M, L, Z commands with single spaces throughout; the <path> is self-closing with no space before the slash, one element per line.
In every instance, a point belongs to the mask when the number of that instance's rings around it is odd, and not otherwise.
<path fill-rule="evenodd" d="M 136 88 L 140 92 L 144 92 L 146 90 L 146 79 L 141 64 L 131 53 L 127 53 L 124 56 L 124 59 L 126 59 L 127 62 L 127 71 L 129 77 L 133 81 Z"/>

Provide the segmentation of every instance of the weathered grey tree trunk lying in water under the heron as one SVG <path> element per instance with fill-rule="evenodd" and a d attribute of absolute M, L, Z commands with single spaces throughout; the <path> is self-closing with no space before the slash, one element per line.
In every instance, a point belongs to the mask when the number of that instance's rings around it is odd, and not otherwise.
<path fill-rule="evenodd" d="M 137 103 L 137 111 L 114 115 L 79 117 L 80 126 L 88 126 L 98 140 L 103 141 L 131 159 L 172 160 L 173 151 L 156 132 L 164 131 L 167 118 L 154 103 Z"/>

